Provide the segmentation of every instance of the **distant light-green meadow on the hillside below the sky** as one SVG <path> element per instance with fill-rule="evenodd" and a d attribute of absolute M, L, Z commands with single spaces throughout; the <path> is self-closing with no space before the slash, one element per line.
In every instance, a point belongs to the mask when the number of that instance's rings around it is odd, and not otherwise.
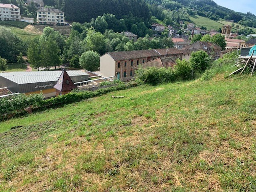
<path fill-rule="evenodd" d="M 231 25 L 232 24 L 231 22 L 227 22 L 223 19 L 215 21 L 215 20 L 211 20 L 208 17 L 202 17 L 202 16 L 199 16 L 199 15 L 190 15 L 189 18 L 197 26 L 199 26 L 199 25 L 204 26 L 208 30 L 210 30 L 210 29 L 218 30 L 219 28 L 222 28 L 223 25 L 226 25 L 226 24 Z M 239 25 L 239 24 L 235 23 L 235 26 L 236 25 Z M 240 29 L 244 28 L 244 26 L 241 26 L 241 25 L 239 25 L 239 26 L 240 26 Z M 256 28 L 253 28 L 253 30 L 254 30 L 254 32 L 256 32 Z M 232 31 L 236 32 L 236 28 L 233 27 Z"/>

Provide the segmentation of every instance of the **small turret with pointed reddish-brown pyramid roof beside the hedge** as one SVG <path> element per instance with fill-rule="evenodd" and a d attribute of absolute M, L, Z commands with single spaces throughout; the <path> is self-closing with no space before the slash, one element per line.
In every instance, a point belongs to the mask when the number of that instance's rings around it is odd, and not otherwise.
<path fill-rule="evenodd" d="M 77 89 L 65 69 L 62 71 L 62 74 L 53 87 L 56 89 L 56 96 L 64 95 L 71 92 L 73 89 Z"/>

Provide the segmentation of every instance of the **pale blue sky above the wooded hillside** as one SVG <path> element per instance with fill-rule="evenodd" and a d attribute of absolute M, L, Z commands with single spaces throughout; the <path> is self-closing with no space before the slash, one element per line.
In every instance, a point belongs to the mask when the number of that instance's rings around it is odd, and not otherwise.
<path fill-rule="evenodd" d="M 237 12 L 251 12 L 256 15 L 256 0 L 214 0 L 218 5 Z"/>

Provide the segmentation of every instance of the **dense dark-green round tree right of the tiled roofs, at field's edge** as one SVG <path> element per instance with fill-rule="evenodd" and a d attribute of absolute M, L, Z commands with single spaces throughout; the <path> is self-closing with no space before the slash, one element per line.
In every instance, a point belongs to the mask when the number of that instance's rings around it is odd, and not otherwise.
<path fill-rule="evenodd" d="M 194 71 L 204 72 L 210 67 L 212 60 L 206 52 L 197 51 L 191 53 L 189 62 Z"/>

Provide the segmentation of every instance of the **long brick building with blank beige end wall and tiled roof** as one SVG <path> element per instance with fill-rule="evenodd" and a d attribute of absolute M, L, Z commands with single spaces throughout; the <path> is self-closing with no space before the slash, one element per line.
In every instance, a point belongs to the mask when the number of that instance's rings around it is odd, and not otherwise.
<path fill-rule="evenodd" d="M 122 81 L 134 76 L 134 66 L 157 58 L 174 56 L 182 58 L 182 51 L 176 48 L 107 52 L 100 57 L 100 73 L 104 77 L 114 76 Z"/>

